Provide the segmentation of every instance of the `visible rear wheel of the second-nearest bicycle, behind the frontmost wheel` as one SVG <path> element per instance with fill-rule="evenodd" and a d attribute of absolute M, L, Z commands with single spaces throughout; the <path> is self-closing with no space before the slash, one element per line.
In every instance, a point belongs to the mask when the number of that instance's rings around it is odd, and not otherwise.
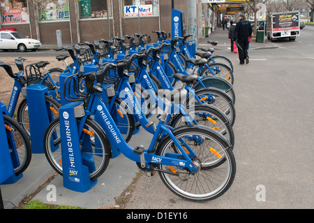
<path fill-rule="evenodd" d="M 234 131 L 230 124 L 230 120 L 223 112 L 214 106 L 205 104 L 198 104 L 192 108 L 188 108 L 187 112 L 192 115 L 197 124 L 202 124 L 222 134 L 233 148 Z M 186 126 L 187 124 L 188 122 L 186 122 L 184 115 L 182 113 L 178 113 L 172 118 L 170 126 L 177 129 L 181 126 Z"/>

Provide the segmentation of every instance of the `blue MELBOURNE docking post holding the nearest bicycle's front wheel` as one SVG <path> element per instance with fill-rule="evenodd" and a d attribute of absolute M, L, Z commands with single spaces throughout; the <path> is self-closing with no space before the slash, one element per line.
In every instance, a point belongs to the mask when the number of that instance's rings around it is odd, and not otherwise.
<path fill-rule="evenodd" d="M 68 73 L 61 73 L 59 75 L 60 83 L 64 83 Z M 71 90 L 73 90 L 73 85 Z M 57 149 L 61 146 L 62 159 L 62 178 L 63 187 L 73 190 L 75 192 L 87 192 L 97 184 L 96 180 L 91 180 L 89 173 L 94 171 L 94 157 L 92 151 L 81 151 L 80 138 L 77 130 L 77 118 L 84 116 L 84 108 L 82 101 L 67 101 L 64 96 L 64 86 L 60 85 L 61 92 L 61 108 L 59 108 L 60 119 L 60 138 L 61 144 L 54 145 Z M 67 91 L 66 91 L 66 94 Z M 86 133 L 87 134 L 87 133 Z M 82 142 L 84 150 L 91 149 L 90 137 L 86 137 Z M 95 142 L 97 139 L 95 138 Z M 84 152 L 82 154 L 81 152 Z"/>

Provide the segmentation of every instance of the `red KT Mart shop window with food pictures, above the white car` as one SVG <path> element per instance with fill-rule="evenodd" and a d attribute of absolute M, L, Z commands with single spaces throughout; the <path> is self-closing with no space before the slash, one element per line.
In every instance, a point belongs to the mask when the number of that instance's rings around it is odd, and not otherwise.
<path fill-rule="evenodd" d="M 1 0 L 1 24 L 29 22 L 27 0 Z"/>

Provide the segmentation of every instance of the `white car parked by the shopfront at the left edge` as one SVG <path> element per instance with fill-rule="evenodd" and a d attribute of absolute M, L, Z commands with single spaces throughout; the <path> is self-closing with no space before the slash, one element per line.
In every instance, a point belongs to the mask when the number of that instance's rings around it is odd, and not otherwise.
<path fill-rule="evenodd" d="M 1 50 L 36 50 L 41 47 L 40 41 L 27 38 L 18 31 L 0 31 L 0 49 Z"/>

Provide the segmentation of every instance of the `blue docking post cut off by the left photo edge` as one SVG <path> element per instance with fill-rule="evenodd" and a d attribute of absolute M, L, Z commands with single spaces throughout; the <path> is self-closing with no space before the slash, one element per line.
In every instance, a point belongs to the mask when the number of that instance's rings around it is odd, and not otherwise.
<path fill-rule="evenodd" d="M 12 132 L 6 129 L 3 114 L 6 114 L 6 105 L 0 101 L 0 185 L 13 184 L 23 177 L 15 175 L 14 168 L 20 166 L 17 148 Z M 9 128 L 9 127 L 8 127 Z"/>

